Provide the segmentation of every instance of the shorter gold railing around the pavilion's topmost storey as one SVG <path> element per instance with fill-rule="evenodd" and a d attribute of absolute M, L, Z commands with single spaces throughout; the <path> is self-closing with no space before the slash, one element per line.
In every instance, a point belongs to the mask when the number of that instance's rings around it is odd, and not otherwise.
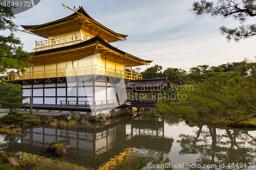
<path fill-rule="evenodd" d="M 44 41 L 35 41 L 35 47 L 45 47 L 45 46 L 49 46 L 49 45 L 56 45 L 56 44 L 60 44 L 60 43 L 67 43 L 67 42 L 72 42 L 72 41 L 77 41 L 77 40 L 81 40 L 81 41 L 87 41 L 89 40 L 90 37 L 86 36 L 86 35 L 82 35 L 82 38 L 79 35 L 73 34 L 73 35 L 68 35 L 68 36 L 63 36 L 63 37 L 58 37 L 58 38 L 54 38 L 54 39 L 48 39 L 48 40 L 44 40 Z"/>

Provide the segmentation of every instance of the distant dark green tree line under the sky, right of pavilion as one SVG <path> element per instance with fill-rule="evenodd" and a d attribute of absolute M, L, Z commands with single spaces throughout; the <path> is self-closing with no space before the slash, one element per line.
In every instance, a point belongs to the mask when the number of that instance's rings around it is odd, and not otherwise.
<path fill-rule="evenodd" d="M 219 66 L 211 66 L 209 65 L 198 65 L 197 67 L 192 67 L 187 72 L 181 68 L 166 68 L 162 71 L 161 65 L 155 65 L 147 68 L 142 72 L 138 72 L 133 70 L 134 73 L 141 74 L 143 79 L 155 79 L 161 77 L 167 77 L 171 83 L 174 84 L 184 84 L 184 83 L 198 83 L 206 80 L 204 74 L 209 72 L 229 72 L 236 71 L 241 77 L 249 76 L 252 70 L 256 68 L 256 64 L 247 59 L 241 62 L 228 62 L 226 64 L 221 64 Z M 138 69 L 139 70 L 139 69 Z M 130 71 L 130 69 L 126 68 L 126 71 Z"/>

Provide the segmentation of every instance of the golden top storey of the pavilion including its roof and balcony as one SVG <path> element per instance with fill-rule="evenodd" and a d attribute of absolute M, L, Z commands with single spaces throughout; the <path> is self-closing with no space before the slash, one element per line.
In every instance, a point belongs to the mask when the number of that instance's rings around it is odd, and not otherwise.
<path fill-rule="evenodd" d="M 122 41 L 127 37 L 104 27 L 82 7 L 70 16 L 41 25 L 22 27 L 26 31 L 47 38 L 35 43 L 35 51 L 75 44 L 97 35 L 108 43 Z"/>

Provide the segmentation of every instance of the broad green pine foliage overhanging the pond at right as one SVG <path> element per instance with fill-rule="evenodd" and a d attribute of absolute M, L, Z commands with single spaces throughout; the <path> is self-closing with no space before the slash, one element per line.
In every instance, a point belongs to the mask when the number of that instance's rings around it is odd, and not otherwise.
<path fill-rule="evenodd" d="M 160 112 L 191 122 L 231 121 L 239 123 L 256 117 L 256 76 L 240 77 L 237 72 L 207 72 L 205 81 L 186 92 L 187 99 L 159 103 Z"/>

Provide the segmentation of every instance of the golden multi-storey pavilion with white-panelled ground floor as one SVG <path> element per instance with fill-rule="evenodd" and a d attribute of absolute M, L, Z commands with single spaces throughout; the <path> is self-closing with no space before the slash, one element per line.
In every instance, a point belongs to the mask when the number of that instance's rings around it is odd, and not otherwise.
<path fill-rule="evenodd" d="M 100 105 L 101 111 L 103 105 L 116 107 L 125 95 L 120 91 L 125 86 L 122 80 L 142 79 L 132 72 L 133 66 L 152 62 L 112 46 L 111 42 L 126 40 L 127 35 L 101 25 L 82 7 L 67 17 L 22 27 L 46 38 L 35 42 L 33 66 L 9 78 L 22 85 L 24 103 L 30 103 L 32 96 L 33 107 L 88 109 L 90 105 L 92 109 Z"/>

